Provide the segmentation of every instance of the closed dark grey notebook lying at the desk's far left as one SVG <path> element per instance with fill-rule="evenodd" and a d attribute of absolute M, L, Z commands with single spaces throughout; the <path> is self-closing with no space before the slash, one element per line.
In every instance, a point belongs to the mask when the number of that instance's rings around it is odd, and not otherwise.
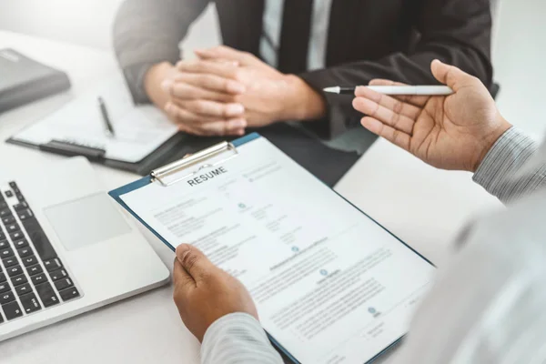
<path fill-rule="evenodd" d="M 0 49 L 0 113 L 68 88 L 70 80 L 64 72 L 14 49 Z"/>

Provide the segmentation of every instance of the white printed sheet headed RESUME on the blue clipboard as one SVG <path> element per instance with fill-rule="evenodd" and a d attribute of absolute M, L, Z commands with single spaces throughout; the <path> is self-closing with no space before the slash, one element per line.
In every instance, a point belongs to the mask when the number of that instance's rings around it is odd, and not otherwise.
<path fill-rule="evenodd" d="M 263 137 L 170 187 L 121 196 L 172 247 L 240 279 L 302 363 L 364 363 L 400 339 L 434 268 Z"/>

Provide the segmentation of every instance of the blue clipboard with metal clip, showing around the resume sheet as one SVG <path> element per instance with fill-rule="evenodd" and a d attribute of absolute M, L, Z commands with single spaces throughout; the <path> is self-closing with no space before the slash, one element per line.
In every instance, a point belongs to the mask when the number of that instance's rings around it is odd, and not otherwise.
<path fill-rule="evenodd" d="M 110 197 L 113 197 L 116 200 L 116 202 L 119 203 L 122 207 L 126 208 L 126 210 L 133 217 L 135 217 L 141 224 L 147 227 L 147 229 L 150 230 L 165 245 L 167 245 L 168 248 L 170 248 L 172 251 L 175 251 L 176 247 L 171 245 L 166 238 L 164 238 L 159 232 L 157 232 L 156 229 L 154 229 L 149 224 L 147 224 L 147 221 L 145 221 L 144 218 L 140 217 L 131 207 L 129 207 L 126 204 L 126 202 L 122 199 L 122 196 L 128 193 L 131 193 L 133 191 L 136 191 L 142 187 L 147 187 L 150 184 L 157 184 L 160 188 L 176 187 L 178 183 L 181 183 L 182 181 L 187 180 L 188 178 L 196 176 L 199 173 L 199 171 L 201 171 L 202 169 L 217 167 L 221 165 L 222 163 L 227 162 L 230 159 L 239 157 L 238 147 L 241 147 L 247 144 L 248 142 L 251 142 L 261 137 L 262 136 L 260 136 L 258 133 L 253 133 L 248 136 L 244 136 L 236 140 L 233 140 L 231 142 L 225 141 L 225 142 L 219 143 L 216 146 L 204 149 L 195 155 L 180 159 L 165 167 L 157 168 L 156 170 L 152 171 L 147 177 L 143 177 L 124 187 L 119 187 L 113 191 L 110 191 L 109 195 Z M 332 192 L 332 194 L 337 195 L 338 197 L 341 197 L 335 190 L 331 188 L 329 188 L 329 190 Z M 403 245 L 406 248 L 409 248 L 409 250 L 412 253 L 414 253 L 417 257 L 419 257 L 428 265 L 430 265 L 430 267 L 432 268 L 434 267 L 434 265 L 430 262 L 430 260 L 423 257 L 415 249 L 411 248 L 405 242 L 397 238 L 387 228 L 381 226 L 376 220 L 374 220 L 372 217 L 369 217 L 366 213 L 362 212 L 358 207 L 355 207 L 354 205 L 352 205 L 344 197 L 341 197 L 341 198 L 350 207 L 353 207 L 360 214 L 364 215 L 365 217 L 368 217 L 371 222 L 373 222 L 383 232 L 386 232 L 391 238 L 398 240 L 400 245 Z M 266 330 L 266 333 L 271 343 L 279 350 L 281 354 L 285 356 L 285 358 L 290 360 L 290 362 L 299 363 L 298 359 L 296 359 L 288 351 L 288 349 L 286 349 L 277 339 L 275 339 L 272 335 L 270 335 L 267 330 Z M 404 338 L 404 335 L 400 336 L 398 339 L 389 341 L 389 345 L 385 345 L 385 347 L 379 350 L 379 352 L 373 358 L 369 359 L 367 363 L 370 363 L 373 360 L 378 359 L 379 356 L 389 351 L 389 349 L 396 347 L 403 338 Z"/>

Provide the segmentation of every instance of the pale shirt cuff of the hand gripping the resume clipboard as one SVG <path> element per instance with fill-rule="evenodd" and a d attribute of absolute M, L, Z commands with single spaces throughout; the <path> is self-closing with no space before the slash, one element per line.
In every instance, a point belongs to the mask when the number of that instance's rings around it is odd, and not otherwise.
<path fill-rule="evenodd" d="M 201 346 L 201 362 L 282 364 L 283 361 L 258 319 L 236 312 L 217 319 L 207 329 Z"/>

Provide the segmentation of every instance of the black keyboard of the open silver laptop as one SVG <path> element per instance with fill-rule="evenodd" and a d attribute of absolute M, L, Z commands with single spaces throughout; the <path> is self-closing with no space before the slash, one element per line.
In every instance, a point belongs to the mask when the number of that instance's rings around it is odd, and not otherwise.
<path fill-rule="evenodd" d="M 0 190 L 0 325 L 80 297 L 15 184 Z"/>

